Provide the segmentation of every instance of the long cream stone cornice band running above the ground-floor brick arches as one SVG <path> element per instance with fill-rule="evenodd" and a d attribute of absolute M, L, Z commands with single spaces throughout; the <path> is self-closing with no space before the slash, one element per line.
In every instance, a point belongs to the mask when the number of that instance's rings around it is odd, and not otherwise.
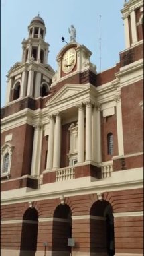
<path fill-rule="evenodd" d="M 137 176 L 137 179 L 132 178 L 128 179 L 128 172 L 141 172 L 141 177 Z M 127 178 L 123 175 L 127 172 Z M 143 168 L 135 169 L 135 170 L 123 170 L 121 172 L 112 172 L 117 177 L 117 181 L 114 181 L 114 177 L 109 179 L 102 179 L 100 181 L 90 181 L 90 177 L 72 179 L 72 181 L 66 182 L 56 182 L 42 185 L 40 189 L 33 191 L 33 189 L 19 189 L 19 193 L 17 193 L 17 189 L 13 191 L 3 191 L 1 192 L 1 205 L 13 204 L 13 203 L 22 203 L 27 201 L 41 201 L 44 199 L 52 199 L 52 198 L 60 198 L 60 195 L 64 195 L 64 197 L 70 197 L 72 195 L 84 195 L 91 193 L 104 193 L 109 191 L 122 191 L 127 189 L 135 189 L 141 188 L 143 189 Z M 121 183 L 119 183 L 119 179 L 123 177 Z M 89 178 L 89 179 L 88 179 Z M 75 182 L 75 184 L 74 184 Z M 63 184 L 63 185 L 62 185 Z M 65 185 L 65 186 L 64 186 Z M 81 187 L 80 187 L 81 185 Z M 57 187 L 57 189 L 56 189 Z M 9 194 L 10 192 L 10 194 Z M 22 196 L 21 196 L 22 195 Z"/>

